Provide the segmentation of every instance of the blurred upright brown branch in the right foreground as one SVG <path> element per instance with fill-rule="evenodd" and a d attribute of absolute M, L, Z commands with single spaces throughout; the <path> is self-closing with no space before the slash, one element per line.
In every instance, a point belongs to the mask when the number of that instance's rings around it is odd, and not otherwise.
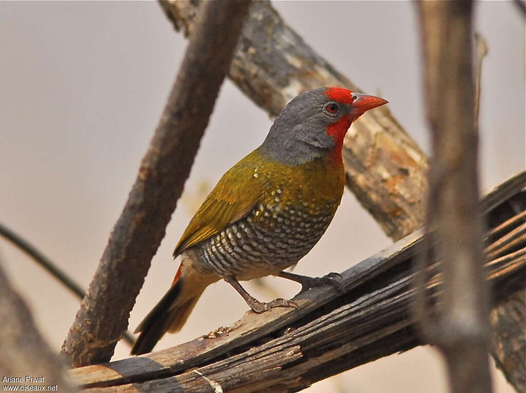
<path fill-rule="evenodd" d="M 488 289 L 480 261 L 478 134 L 474 127 L 472 3 L 420 2 L 427 116 L 433 164 L 428 228 L 444 261 L 443 303 L 424 318 L 427 339 L 443 352 L 454 393 L 490 392 Z"/>

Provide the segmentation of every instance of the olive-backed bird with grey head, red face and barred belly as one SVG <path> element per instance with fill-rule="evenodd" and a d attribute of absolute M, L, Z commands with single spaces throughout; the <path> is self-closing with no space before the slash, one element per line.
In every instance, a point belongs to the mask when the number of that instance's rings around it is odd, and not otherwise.
<path fill-rule="evenodd" d="M 345 185 L 343 138 L 351 123 L 388 101 L 341 87 L 292 99 L 264 142 L 219 180 L 190 220 L 174 251 L 181 263 L 168 292 L 138 325 L 132 355 L 149 353 L 186 322 L 206 287 L 225 280 L 255 313 L 296 307 L 259 302 L 239 281 L 274 275 L 302 284 L 338 284 L 337 274 L 308 277 L 295 266 L 329 226 Z M 341 283 L 340 283 L 341 285 Z"/>

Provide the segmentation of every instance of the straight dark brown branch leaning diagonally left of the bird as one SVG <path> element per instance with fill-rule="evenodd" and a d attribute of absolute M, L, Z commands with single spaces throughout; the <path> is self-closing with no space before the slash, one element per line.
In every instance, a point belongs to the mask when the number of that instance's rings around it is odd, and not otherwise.
<path fill-rule="evenodd" d="M 62 348 L 74 366 L 108 361 L 128 326 L 228 71 L 250 2 L 201 9 L 137 180 Z"/>

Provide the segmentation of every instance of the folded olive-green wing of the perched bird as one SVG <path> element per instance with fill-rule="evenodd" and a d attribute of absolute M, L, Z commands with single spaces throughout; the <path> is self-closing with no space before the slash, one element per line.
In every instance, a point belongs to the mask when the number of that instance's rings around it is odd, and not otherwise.
<path fill-rule="evenodd" d="M 243 218 L 258 203 L 265 184 L 254 177 L 256 166 L 253 160 L 250 160 L 252 154 L 238 162 L 219 180 L 190 220 L 175 247 L 174 257 L 188 247 L 221 232 L 228 224 Z"/>

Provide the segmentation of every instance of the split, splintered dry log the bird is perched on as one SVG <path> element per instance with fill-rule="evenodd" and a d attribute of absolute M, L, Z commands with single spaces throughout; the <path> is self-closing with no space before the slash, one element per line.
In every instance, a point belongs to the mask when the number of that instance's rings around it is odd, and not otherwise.
<path fill-rule="evenodd" d="M 492 223 L 488 241 L 515 227 L 503 224 L 526 211 L 526 173 L 503 183 L 482 201 Z M 495 234 L 498 234 L 496 236 Z M 310 289 L 295 297 L 297 310 L 248 312 L 228 328 L 156 353 L 70 371 L 90 392 L 289 392 L 382 356 L 423 344 L 414 332 L 409 304 L 411 264 L 423 244 L 413 233 L 342 273 L 347 289 Z M 500 299 L 526 283 L 526 239 L 488 261 L 488 280 Z M 437 266 L 433 272 L 438 272 Z M 433 299 L 441 277 L 428 284 Z"/>

